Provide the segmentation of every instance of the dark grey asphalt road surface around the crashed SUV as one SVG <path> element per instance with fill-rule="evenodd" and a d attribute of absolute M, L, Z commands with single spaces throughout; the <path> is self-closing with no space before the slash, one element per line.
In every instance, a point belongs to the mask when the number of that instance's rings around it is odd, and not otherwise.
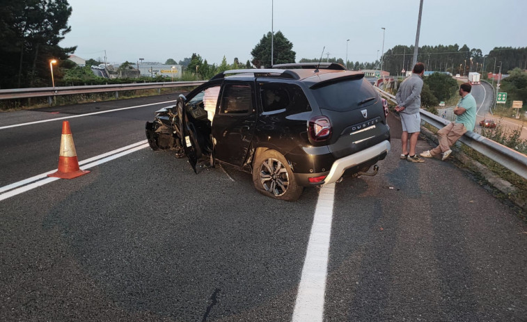
<path fill-rule="evenodd" d="M 173 99 L 1 113 L 0 188 L 56 168 L 62 120 L 2 127 L 145 105 L 70 118 L 84 160 Z M 389 124 L 379 174 L 336 184 L 324 321 L 526 321 L 526 224 L 453 161 L 400 160 Z M 90 170 L 0 201 L 2 321 L 291 321 L 319 188 L 272 200 L 149 148 Z"/>

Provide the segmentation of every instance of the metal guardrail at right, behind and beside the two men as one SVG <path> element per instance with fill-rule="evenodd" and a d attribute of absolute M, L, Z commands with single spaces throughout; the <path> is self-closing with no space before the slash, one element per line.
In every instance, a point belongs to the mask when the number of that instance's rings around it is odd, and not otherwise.
<path fill-rule="evenodd" d="M 379 90 L 381 95 L 397 104 L 395 96 L 388 92 L 384 92 L 384 90 L 379 88 L 377 88 L 377 90 Z M 439 116 L 425 111 L 422 108 L 420 109 L 420 116 L 421 120 L 436 127 L 436 129 L 441 129 L 446 124 L 450 123 L 449 121 L 439 118 Z M 473 131 L 467 131 L 461 138 L 459 138 L 459 141 L 471 147 L 473 150 L 480 152 L 484 156 L 487 156 L 492 161 L 501 164 L 501 166 L 504 166 L 517 175 L 524 177 L 524 179 L 527 179 L 527 156 L 525 154 L 521 154 L 509 147 L 505 147 L 505 145 L 489 140 L 488 138 L 485 138 L 485 136 L 480 136 Z"/>

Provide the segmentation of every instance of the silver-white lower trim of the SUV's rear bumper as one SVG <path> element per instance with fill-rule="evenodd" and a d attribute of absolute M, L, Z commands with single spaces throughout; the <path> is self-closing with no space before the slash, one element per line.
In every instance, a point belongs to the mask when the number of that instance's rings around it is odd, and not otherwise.
<path fill-rule="evenodd" d="M 333 166 L 331 166 L 331 170 L 329 170 L 329 175 L 324 179 L 324 184 L 337 182 L 347 169 L 359 166 L 361 163 L 375 159 L 388 152 L 390 152 L 390 141 L 384 140 L 377 145 L 368 147 L 368 149 L 337 159 L 333 162 Z"/>

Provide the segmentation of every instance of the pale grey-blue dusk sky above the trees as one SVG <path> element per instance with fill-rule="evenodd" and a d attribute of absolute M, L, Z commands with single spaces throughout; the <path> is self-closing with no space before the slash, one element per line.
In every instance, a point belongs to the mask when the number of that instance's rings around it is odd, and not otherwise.
<path fill-rule="evenodd" d="M 176 62 L 193 53 L 245 63 L 263 35 L 281 31 L 301 58 L 373 62 L 414 45 L 419 0 L 68 0 L 72 31 L 61 47 L 109 63 Z M 321 5 L 322 3 L 322 5 Z M 424 0 L 419 46 L 527 47 L 526 0 Z M 384 31 L 382 27 L 386 30 Z M 347 41 L 349 39 L 349 42 Z M 378 51 L 378 52 L 377 52 Z"/>

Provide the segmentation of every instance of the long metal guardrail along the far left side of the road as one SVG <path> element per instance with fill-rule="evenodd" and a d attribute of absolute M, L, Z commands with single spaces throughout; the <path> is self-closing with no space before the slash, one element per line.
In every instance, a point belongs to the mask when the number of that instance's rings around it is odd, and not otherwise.
<path fill-rule="evenodd" d="M 199 86 L 203 83 L 205 83 L 205 81 L 169 81 L 162 83 L 133 83 L 46 88 L 15 88 L 10 90 L 0 90 L 0 99 L 19 99 L 45 96 L 53 97 L 58 95 L 88 94 L 93 92 L 119 92 L 121 90 L 150 90 L 156 88 Z"/>

